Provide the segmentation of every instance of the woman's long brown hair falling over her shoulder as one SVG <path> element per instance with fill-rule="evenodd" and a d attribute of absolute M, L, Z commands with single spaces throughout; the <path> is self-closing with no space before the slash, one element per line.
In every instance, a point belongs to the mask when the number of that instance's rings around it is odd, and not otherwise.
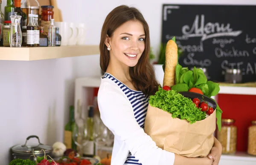
<path fill-rule="evenodd" d="M 100 49 L 100 67 L 102 71 L 106 71 L 110 60 L 109 51 L 105 45 L 105 39 L 113 35 L 113 32 L 123 23 L 129 20 L 137 20 L 143 24 L 145 31 L 145 50 L 140 57 L 137 65 L 130 67 L 129 74 L 134 87 L 143 91 L 146 95 L 155 94 L 158 88 L 158 83 L 155 78 L 154 68 L 149 61 L 150 53 L 150 37 L 148 23 L 145 21 L 140 11 L 134 7 L 121 5 L 113 9 L 105 19 L 102 26 L 101 40 L 99 44 Z"/>

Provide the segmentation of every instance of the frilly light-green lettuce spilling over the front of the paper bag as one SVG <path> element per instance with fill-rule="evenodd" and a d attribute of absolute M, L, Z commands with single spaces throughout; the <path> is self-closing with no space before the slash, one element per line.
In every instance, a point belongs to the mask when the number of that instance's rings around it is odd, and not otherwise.
<path fill-rule="evenodd" d="M 190 98 L 184 97 L 174 90 L 165 91 L 160 87 L 155 95 L 150 96 L 149 104 L 171 113 L 173 118 L 186 119 L 191 124 L 205 119 L 206 116 L 201 108 L 195 107 Z"/>

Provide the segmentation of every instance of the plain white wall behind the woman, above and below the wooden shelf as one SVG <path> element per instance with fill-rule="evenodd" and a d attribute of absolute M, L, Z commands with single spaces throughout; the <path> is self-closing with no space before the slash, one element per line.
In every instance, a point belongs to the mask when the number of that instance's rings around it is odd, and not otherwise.
<path fill-rule="evenodd" d="M 99 44 L 102 23 L 120 4 L 140 9 L 148 21 L 151 46 L 158 51 L 162 3 L 190 0 L 58 0 L 63 20 L 87 24 L 87 44 Z M 255 0 L 194 0 L 208 4 L 256 4 Z M 2 11 L 6 6 L 3 0 Z M 1 52 L 0 52 L 1 54 Z M 0 61 L 0 165 L 9 162 L 9 148 L 35 134 L 52 145 L 63 140 L 69 105 L 74 102 L 74 79 L 100 75 L 99 55 L 41 61 Z M 35 139 L 31 140 L 36 142 Z"/>

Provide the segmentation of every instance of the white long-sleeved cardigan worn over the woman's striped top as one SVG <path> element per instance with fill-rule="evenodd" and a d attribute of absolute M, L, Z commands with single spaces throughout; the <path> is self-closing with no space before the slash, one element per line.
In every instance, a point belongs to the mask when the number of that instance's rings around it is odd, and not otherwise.
<path fill-rule="evenodd" d="M 98 105 L 103 123 L 115 135 L 111 165 L 123 165 L 129 151 L 142 165 L 173 165 L 175 154 L 158 148 L 137 123 L 128 97 L 112 80 L 101 79 Z"/>

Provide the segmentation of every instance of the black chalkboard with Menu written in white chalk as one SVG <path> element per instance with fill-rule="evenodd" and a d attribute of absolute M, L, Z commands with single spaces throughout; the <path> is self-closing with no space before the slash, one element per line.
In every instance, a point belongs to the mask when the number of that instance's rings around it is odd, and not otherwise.
<path fill-rule="evenodd" d="M 219 82 L 235 68 L 244 83 L 256 81 L 256 6 L 164 4 L 162 43 L 173 36 L 183 67 L 207 68 Z"/>

